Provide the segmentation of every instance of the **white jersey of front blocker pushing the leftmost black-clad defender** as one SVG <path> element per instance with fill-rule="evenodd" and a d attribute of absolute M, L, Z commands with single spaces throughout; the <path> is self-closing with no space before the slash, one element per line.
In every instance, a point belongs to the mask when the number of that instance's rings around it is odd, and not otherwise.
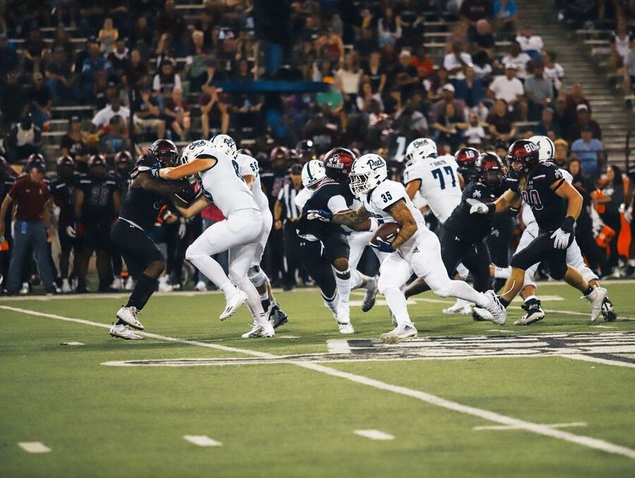
<path fill-rule="evenodd" d="M 198 175 L 205 197 L 216 204 L 223 216 L 229 217 L 229 214 L 240 209 L 260 211 L 249 186 L 238 171 L 236 160 L 212 146 L 200 149 L 196 155 L 198 157 L 217 159 L 212 168 Z"/>

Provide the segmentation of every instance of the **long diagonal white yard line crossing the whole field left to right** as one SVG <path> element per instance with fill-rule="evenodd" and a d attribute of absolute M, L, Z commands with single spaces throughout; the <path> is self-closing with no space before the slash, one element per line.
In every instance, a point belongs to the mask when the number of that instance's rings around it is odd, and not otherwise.
<path fill-rule="evenodd" d="M 37 317 L 47 317 L 49 319 L 57 319 L 57 320 L 75 322 L 75 323 L 83 324 L 83 325 L 109 328 L 108 324 L 99 324 L 97 322 L 84 320 L 84 319 L 73 319 L 71 317 L 63 317 L 63 316 L 55 315 L 55 314 L 45 314 L 42 312 L 36 312 L 32 310 L 18 309 L 16 307 L 8 307 L 6 305 L 0 305 L 0 308 L 4 310 L 11 310 L 13 312 L 20 312 L 22 314 L 31 314 Z M 196 346 L 205 347 L 205 348 L 215 348 L 219 350 L 243 353 L 246 355 L 251 355 L 256 357 L 277 358 L 276 355 L 272 355 L 269 353 L 256 352 L 254 350 L 224 347 L 223 345 L 216 345 L 216 344 L 210 344 L 210 343 L 204 343 L 204 342 L 198 342 L 198 341 L 186 341 L 181 338 L 159 336 L 154 333 L 143 333 L 143 334 L 145 336 L 157 338 L 163 341 L 187 343 L 188 345 L 196 345 Z M 513 417 L 507 417 L 506 415 L 501 415 L 500 413 L 490 412 L 488 410 L 482 410 L 480 408 L 471 407 L 468 405 L 462 405 L 461 403 L 456 403 L 456 402 L 453 402 L 452 400 L 446 400 L 445 398 L 437 397 L 430 393 L 425 393 L 422 391 L 413 390 L 411 388 L 406 388 L 402 386 L 386 384 L 385 382 L 382 382 L 379 380 L 369 379 L 368 377 L 357 375 L 357 374 L 351 374 L 349 372 L 342 372 L 340 370 L 332 369 L 330 367 L 325 367 L 324 365 L 313 363 L 313 362 L 294 361 L 291 363 L 303 369 L 309 369 L 315 372 L 321 372 L 329 376 L 337 376 L 340 379 L 353 381 L 356 384 L 362 384 L 365 386 L 377 388 L 378 390 L 389 391 L 392 393 L 398 393 L 399 395 L 416 398 L 417 400 L 421 400 L 430 405 L 442 407 L 447 410 L 452 410 L 454 412 L 463 413 L 465 415 L 472 415 L 473 417 L 479 417 L 479 418 L 488 420 L 490 422 L 507 425 L 509 427 L 518 427 L 521 430 L 530 431 L 531 433 L 534 433 L 534 434 L 548 436 L 550 438 L 554 438 L 557 440 L 568 441 L 569 443 L 576 443 L 581 446 L 586 446 L 587 448 L 594 448 L 596 450 L 605 451 L 606 453 L 612 453 L 614 455 L 622 455 L 627 458 L 635 459 L 635 450 L 631 448 L 627 448 L 625 446 L 616 445 L 615 443 L 610 443 L 604 440 L 595 439 L 591 436 L 576 435 L 576 434 L 572 434 L 569 431 L 552 429 L 549 427 L 545 427 L 545 425 L 541 425 L 541 424 L 537 424 L 533 422 L 526 422 L 525 420 L 516 419 Z"/>

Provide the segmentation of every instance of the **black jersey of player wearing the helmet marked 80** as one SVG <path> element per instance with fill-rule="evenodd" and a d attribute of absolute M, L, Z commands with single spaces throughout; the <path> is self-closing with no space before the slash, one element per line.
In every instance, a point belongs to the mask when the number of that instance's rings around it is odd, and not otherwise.
<path fill-rule="evenodd" d="M 550 162 L 538 164 L 528 174 L 526 184 L 521 184 L 516 178 L 507 178 L 507 186 L 519 193 L 524 202 L 529 204 L 542 231 L 555 231 L 567 214 L 567 201 L 551 190 L 553 183 L 558 183 L 560 187 L 564 183 L 564 177 L 558 166 Z"/>

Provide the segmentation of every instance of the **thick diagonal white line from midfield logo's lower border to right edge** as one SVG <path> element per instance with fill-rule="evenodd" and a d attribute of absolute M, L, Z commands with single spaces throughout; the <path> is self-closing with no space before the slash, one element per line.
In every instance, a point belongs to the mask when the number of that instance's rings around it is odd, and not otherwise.
<path fill-rule="evenodd" d="M 569 431 L 563 431 L 559 429 L 552 429 L 545 427 L 538 423 L 526 422 L 525 420 L 516 419 L 501 415 L 500 413 L 490 412 L 488 410 L 482 410 L 480 408 L 471 407 L 468 405 L 462 405 L 461 403 L 453 402 L 452 400 L 446 400 L 445 398 L 437 397 L 430 393 L 425 393 L 411 388 L 402 386 L 386 384 L 385 382 L 369 379 L 368 377 L 351 374 L 349 372 L 341 372 L 337 369 L 325 367 L 324 365 L 315 364 L 312 362 L 295 362 L 298 367 L 303 367 L 316 372 L 322 372 L 331 376 L 338 376 L 341 379 L 356 382 L 357 384 L 363 384 L 380 390 L 390 391 L 393 393 L 399 393 L 400 395 L 416 398 L 430 405 L 436 405 L 437 407 L 446 408 L 447 410 L 453 410 L 455 412 L 464 413 L 466 415 L 472 415 L 473 417 L 479 417 L 490 422 L 500 423 L 511 427 L 518 427 L 524 431 L 531 431 L 532 433 L 549 436 L 558 440 L 569 441 L 588 448 L 595 448 L 596 450 L 605 451 L 614 455 L 622 455 L 627 458 L 635 459 L 635 450 L 627 448 L 626 446 L 615 445 L 608 441 L 594 439 L 591 436 L 576 435 Z"/>

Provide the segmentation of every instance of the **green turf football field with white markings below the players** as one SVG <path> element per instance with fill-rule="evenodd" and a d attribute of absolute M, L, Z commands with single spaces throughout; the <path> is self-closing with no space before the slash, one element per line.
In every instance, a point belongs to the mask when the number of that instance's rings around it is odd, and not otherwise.
<path fill-rule="evenodd" d="M 241 339 L 217 293 L 157 295 L 142 341 L 108 335 L 123 295 L 0 298 L 1 477 L 627 477 L 635 475 L 635 281 L 618 321 L 539 283 L 548 317 L 447 316 L 425 293 L 397 345 L 378 296 L 342 336 L 317 290 Z"/>

